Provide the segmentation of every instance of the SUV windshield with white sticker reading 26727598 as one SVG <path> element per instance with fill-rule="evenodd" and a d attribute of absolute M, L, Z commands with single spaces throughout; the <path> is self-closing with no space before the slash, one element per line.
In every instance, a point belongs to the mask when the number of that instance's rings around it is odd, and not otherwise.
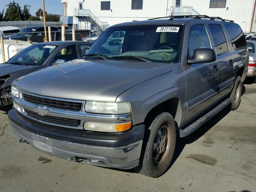
<path fill-rule="evenodd" d="M 86 54 L 115 60 L 140 57 L 152 62 L 177 62 L 181 34 L 182 25 L 174 24 L 111 27 Z"/>

